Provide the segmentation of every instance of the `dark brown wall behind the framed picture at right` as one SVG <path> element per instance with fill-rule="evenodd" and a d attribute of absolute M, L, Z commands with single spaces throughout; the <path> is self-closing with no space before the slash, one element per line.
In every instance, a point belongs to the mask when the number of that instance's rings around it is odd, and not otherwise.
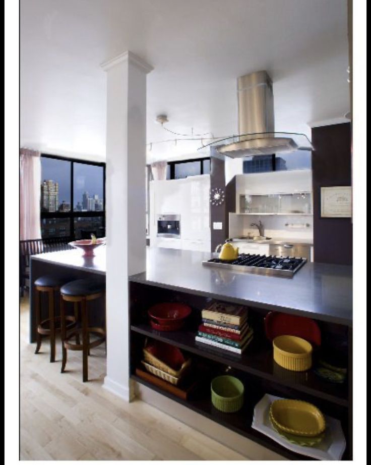
<path fill-rule="evenodd" d="M 315 261 L 352 265 L 351 218 L 321 218 L 321 187 L 351 185 L 350 123 L 312 129 Z"/>

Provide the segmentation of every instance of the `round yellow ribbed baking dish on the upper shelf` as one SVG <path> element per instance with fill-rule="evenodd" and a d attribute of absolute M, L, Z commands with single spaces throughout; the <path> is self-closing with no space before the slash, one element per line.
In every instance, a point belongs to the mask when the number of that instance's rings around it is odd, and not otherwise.
<path fill-rule="evenodd" d="M 297 336 L 277 336 L 273 339 L 273 358 L 286 370 L 303 372 L 312 367 L 312 344 Z"/>

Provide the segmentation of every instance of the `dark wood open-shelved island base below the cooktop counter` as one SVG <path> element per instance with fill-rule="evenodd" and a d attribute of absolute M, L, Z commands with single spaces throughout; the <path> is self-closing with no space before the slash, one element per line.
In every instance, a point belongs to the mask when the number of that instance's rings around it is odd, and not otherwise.
<path fill-rule="evenodd" d="M 329 318 L 326 313 L 310 315 L 320 326 L 323 341 L 341 340 L 345 341 L 347 346 L 347 379 L 343 384 L 331 383 L 318 377 L 312 369 L 307 372 L 292 372 L 281 368 L 275 363 L 272 343 L 267 340 L 264 331 L 264 317 L 274 309 L 272 305 L 265 307 L 264 304 L 259 302 L 254 305 L 253 302 L 246 302 L 238 295 L 232 298 L 224 295 L 221 298 L 221 292 L 215 295 L 203 291 L 200 289 L 201 286 L 198 288 L 195 286 L 195 289 L 186 289 L 185 286 L 175 286 L 173 283 L 164 282 L 165 280 L 156 282 L 152 279 L 154 274 L 155 271 L 152 269 L 147 273 L 132 276 L 129 282 L 131 379 L 292 460 L 310 460 L 313 458 L 294 453 L 253 429 L 251 425 L 254 407 L 266 393 L 311 402 L 317 405 L 325 415 L 340 420 L 347 444 L 342 460 L 352 458 L 351 319 L 347 324 L 344 318 L 339 322 L 336 321 L 334 315 Z M 243 278 L 249 279 L 248 276 Z M 263 277 L 263 279 L 269 285 L 272 278 Z M 211 299 L 226 302 L 244 302 L 249 307 L 249 321 L 254 328 L 254 341 L 242 355 L 233 354 L 232 352 L 226 353 L 224 350 L 195 342 L 197 327 L 201 321 L 201 310 Z M 161 332 L 152 329 L 147 310 L 151 305 L 165 301 L 182 302 L 192 307 L 192 315 L 185 327 L 173 332 Z M 276 309 L 281 312 L 286 311 L 282 307 Z M 293 308 L 288 313 L 308 316 L 307 312 L 301 312 L 298 308 Z M 193 358 L 196 366 L 194 376 L 199 382 L 192 394 L 187 398 L 163 389 L 160 383 L 155 385 L 142 376 L 138 376 L 137 369 L 143 369 L 143 365 L 141 365 L 142 349 L 147 338 L 169 343 Z M 314 354 L 314 363 L 316 357 L 317 354 Z M 245 386 L 243 408 L 234 414 L 223 414 L 211 402 L 210 380 L 226 372 L 239 378 Z"/>

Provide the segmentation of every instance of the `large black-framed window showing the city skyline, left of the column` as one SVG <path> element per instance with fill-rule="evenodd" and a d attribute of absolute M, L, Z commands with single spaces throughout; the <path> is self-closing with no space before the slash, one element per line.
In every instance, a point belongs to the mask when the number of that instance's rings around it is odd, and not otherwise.
<path fill-rule="evenodd" d="M 41 155 L 41 237 L 105 236 L 105 164 Z"/>

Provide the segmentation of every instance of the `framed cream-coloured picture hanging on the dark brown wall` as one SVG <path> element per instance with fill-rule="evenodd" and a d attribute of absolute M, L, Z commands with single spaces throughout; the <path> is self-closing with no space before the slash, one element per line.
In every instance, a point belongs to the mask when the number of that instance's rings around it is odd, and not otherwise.
<path fill-rule="evenodd" d="M 352 188 L 321 187 L 321 218 L 351 218 Z"/>

